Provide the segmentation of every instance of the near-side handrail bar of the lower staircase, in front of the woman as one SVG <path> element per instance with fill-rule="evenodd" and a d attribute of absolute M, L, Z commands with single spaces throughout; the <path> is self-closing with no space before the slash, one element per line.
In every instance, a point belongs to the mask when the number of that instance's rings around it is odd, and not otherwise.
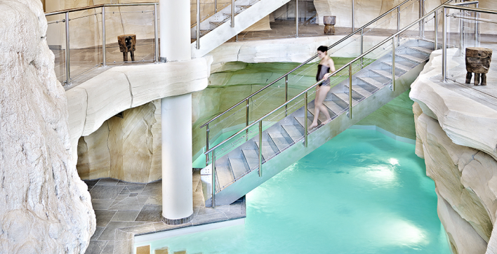
<path fill-rule="evenodd" d="M 364 58 L 364 56 L 368 55 L 369 53 L 373 52 L 374 50 L 376 50 L 377 48 L 380 48 L 380 46 L 383 46 L 383 44 L 387 43 L 387 41 L 390 41 L 392 40 L 392 38 L 394 38 L 395 36 L 398 36 L 399 34 L 402 34 L 403 32 L 405 32 L 407 29 L 413 27 L 414 25 L 418 24 L 420 20 L 424 20 L 425 18 L 428 18 L 430 17 L 430 15 L 432 15 L 433 13 L 435 13 L 435 11 L 439 11 L 439 9 L 441 9 L 445 4 L 448 4 L 449 2 L 451 2 L 453 0 L 448 0 L 446 1 L 444 4 L 438 6 L 437 8 L 435 8 L 433 11 L 430 11 L 430 13 L 424 15 L 422 18 L 420 18 L 419 20 L 416 20 L 414 22 L 412 22 L 410 25 L 407 25 L 406 27 L 404 27 L 403 29 L 400 29 L 399 32 L 396 32 L 395 34 L 392 34 L 391 36 L 389 36 L 387 39 L 381 41 L 379 44 L 376 44 L 376 46 L 374 46 L 373 48 L 370 48 L 368 51 L 362 53 L 361 55 L 359 55 L 357 58 L 354 58 L 354 60 L 351 60 L 350 62 L 348 62 L 346 65 L 343 65 L 342 67 L 338 68 L 335 72 L 333 72 L 331 74 L 331 76 L 337 74 L 338 72 L 342 71 L 343 69 L 349 67 L 350 65 L 352 65 L 352 63 L 356 62 L 357 60 L 360 60 L 361 58 Z M 497 12 L 496 12 L 497 13 Z M 225 142 L 227 142 L 228 140 L 231 140 L 232 138 L 234 138 L 236 135 L 239 135 L 240 133 L 243 133 L 244 131 L 248 130 L 248 128 L 251 128 L 252 126 L 256 125 L 259 121 L 263 121 L 263 119 L 265 119 L 267 116 L 270 116 L 270 114 L 274 113 L 274 112 L 277 112 L 279 109 L 281 109 L 282 107 L 284 107 L 285 105 L 289 105 L 290 102 L 292 102 L 293 100 L 296 100 L 299 96 L 303 95 L 304 93 L 307 93 L 308 91 L 310 91 L 312 88 L 314 88 L 315 86 L 317 86 L 319 83 L 322 83 L 324 81 L 324 79 L 320 80 L 320 81 L 317 81 L 316 83 L 314 83 L 314 85 L 310 86 L 309 88 L 305 89 L 304 91 L 298 93 L 298 95 L 296 95 L 295 97 L 291 98 L 288 102 L 285 102 L 283 105 L 280 105 L 279 107 L 277 107 L 276 109 L 273 109 L 271 112 L 265 114 L 264 116 L 260 117 L 260 119 L 256 120 L 256 121 L 253 121 L 253 123 L 249 124 L 248 126 L 246 126 L 245 128 L 241 129 L 241 131 L 238 131 L 237 133 L 233 134 L 230 136 L 230 138 L 227 138 L 226 140 L 224 140 L 223 142 L 220 142 L 218 145 L 214 146 L 214 147 L 211 147 L 210 149 L 208 149 L 206 152 L 204 152 L 204 154 L 208 154 L 209 152 L 212 152 L 214 149 L 220 147 L 221 145 L 225 144 Z M 349 94 L 349 96 L 351 96 L 352 93 Z M 304 128 L 306 129 L 307 131 L 307 126 L 304 126 Z"/>

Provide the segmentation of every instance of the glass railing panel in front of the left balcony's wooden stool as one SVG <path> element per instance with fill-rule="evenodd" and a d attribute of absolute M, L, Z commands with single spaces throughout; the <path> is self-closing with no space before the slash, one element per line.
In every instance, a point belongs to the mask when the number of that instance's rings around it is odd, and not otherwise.
<path fill-rule="evenodd" d="M 105 7 L 105 41 L 107 65 L 133 62 L 131 53 L 125 61 L 118 36 L 135 34 L 134 62 L 153 62 L 155 59 L 154 6 Z"/>

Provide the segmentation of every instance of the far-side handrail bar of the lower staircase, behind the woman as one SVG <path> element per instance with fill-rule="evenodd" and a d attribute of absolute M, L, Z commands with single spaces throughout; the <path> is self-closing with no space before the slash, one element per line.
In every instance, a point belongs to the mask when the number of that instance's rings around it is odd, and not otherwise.
<path fill-rule="evenodd" d="M 383 13 L 382 15 L 379 15 L 378 18 L 375 18 L 374 20 L 371 20 L 370 22 L 368 22 L 366 25 L 358 28 L 357 30 L 355 30 L 354 32 L 352 32 L 351 34 L 343 37 L 342 39 L 340 39 L 339 41 L 337 41 L 336 43 L 334 43 L 333 45 L 329 46 L 328 47 L 328 50 L 330 50 L 331 48 L 337 46 L 338 44 L 342 43 L 343 41 L 349 39 L 350 37 L 352 37 L 354 34 L 357 34 L 357 32 L 359 31 L 362 31 L 362 29 L 368 27 L 369 25 L 373 24 L 374 22 L 380 20 L 381 18 L 385 17 L 386 15 L 388 15 L 389 13 L 392 13 L 392 11 L 397 11 L 397 8 L 399 6 L 402 6 L 403 4 L 406 4 L 407 2 L 409 1 L 413 1 L 413 0 L 405 0 L 403 1 L 401 4 L 395 6 L 394 8 L 392 8 L 390 11 L 387 11 L 385 13 Z M 418 0 L 415 0 L 415 1 L 418 1 Z M 453 1 L 453 0 L 451 0 Z M 305 62 L 301 63 L 300 65 L 298 65 L 297 67 L 293 68 L 290 72 L 287 72 L 286 74 L 284 74 L 283 76 L 280 76 L 278 79 L 272 81 L 271 83 L 267 84 L 266 86 L 264 86 L 263 88 L 260 88 L 258 91 L 252 93 L 251 95 L 248 95 L 244 100 L 241 100 L 240 102 L 238 102 L 237 104 L 233 105 L 232 107 L 230 107 L 229 109 L 226 109 L 223 113 L 220 113 L 218 114 L 216 117 L 214 117 L 213 119 L 207 121 L 206 123 L 202 124 L 199 128 L 204 128 L 204 126 L 208 125 L 208 123 L 211 123 L 212 121 L 218 119 L 220 116 L 223 116 L 223 114 L 226 114 L 227 112 L 229 112 L 231 109 L 234 109 L 235 107 L 241 105 L 241 103 L 245 102 L 246 100 L 252 98 L 254 95 L 260 93 L 261 91 L 265 90 L 265 88 L 268 88 L 270 86 L 272 86 L 274 83 L 276 83 L 277 81 L 280 81 L 281 79 L 284 79 L 285 76 L 288 76 L 289 74 L 291 74 L 292 72 L 295 72 L 296 69 L 302 67 L 303 65 L 307 64 L 308 62 L 314 60 L 315 58 L 317 58 L 317 54 L 312 56 L 312 58 L 309 58 L 307 60 L 305 60 Z"/>

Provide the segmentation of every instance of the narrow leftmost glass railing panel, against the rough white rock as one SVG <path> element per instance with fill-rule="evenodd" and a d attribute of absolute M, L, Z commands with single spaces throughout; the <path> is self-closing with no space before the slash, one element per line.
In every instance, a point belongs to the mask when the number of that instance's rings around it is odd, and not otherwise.
<path fill-rule="evenodd" d="M 48 26 L 46 42 L 55 56 L 54 69 L 57 80 L 64 83 L 65 75 L 65 14 L 46 17 Z"/>

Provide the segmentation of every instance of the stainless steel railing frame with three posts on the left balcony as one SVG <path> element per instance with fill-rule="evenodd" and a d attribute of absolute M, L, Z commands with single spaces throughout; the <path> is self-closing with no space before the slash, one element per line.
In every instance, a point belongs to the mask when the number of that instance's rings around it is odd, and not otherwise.
<path fill-rule="evenodd" d="M 84 6 L 84 7 L 78 7 L 78 8 L 70 8 L 70 9 L 65 9 L 62 11 L 53 11 L 51 13 L 45 13 L 45 17 L 51 16 L 51 15 L 58 15 L 58 14 L 64 14 L 65 19 L 62 20 L 62 22 L 65 22 L 65 83 L 69 84 L 71 83 L 71 65 L 70 65 L 70 44 L 69 44 L 69 13 L 75 12 L 75 11 L 86 11 L 86 10 L 91 10 L 91 9 L 96 9 L 96 8 L 102 8 L 102 62 L 100 63 L 102 67 L 107 66 L 107 51 L 106 51 L 106 36 L 105 36 L 105 7 L 121 7 L 121 6 L 154 6 L 154 43 L 155 43 L 155 48 L 154 48 L 154 62 L 159 62 L 159 35 L 158 35 L 158 23 L 157 23 L 157 5 L 159 3 L 128 3 L 128 4 L 97 4 L 93 6 Z M 98 13 L 95 13 L 95 15 Z M 95 65 L 98 66 L 98 65 Z"/>

